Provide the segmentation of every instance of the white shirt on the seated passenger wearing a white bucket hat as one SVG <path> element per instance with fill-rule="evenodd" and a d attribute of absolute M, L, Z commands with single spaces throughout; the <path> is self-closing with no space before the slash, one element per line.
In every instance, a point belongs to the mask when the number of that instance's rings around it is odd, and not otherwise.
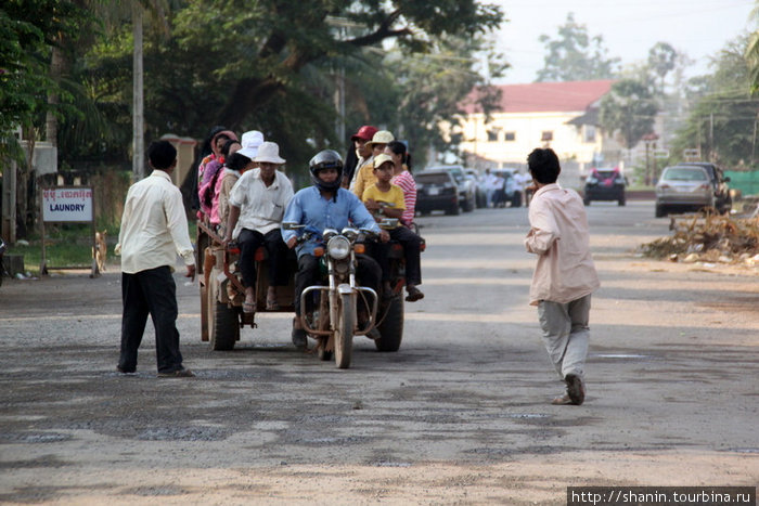
<path fill-rule="evenodd" d="M 261 169 L 253 169 L 240 177 L 229 194 L 229 203 L 240 208 L 240 219 L 232 232 L 237 237 L 243 229 L 266 235 L 282 223 L 285 208 L 293 198 L 293 183 L 279 170 L 267 186 Z"/>

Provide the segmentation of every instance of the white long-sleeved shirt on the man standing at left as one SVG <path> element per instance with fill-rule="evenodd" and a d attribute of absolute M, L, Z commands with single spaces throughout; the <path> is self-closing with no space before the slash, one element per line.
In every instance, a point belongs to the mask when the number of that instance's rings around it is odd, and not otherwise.
<path fill-rule="evenodd" d="M 163 170 L 131 185 L 127 192 L 116 254 L 121 272 L 134 274 L 173 264 L 179 254 L 186 265 L 195 264 L 182 193 Z"/>

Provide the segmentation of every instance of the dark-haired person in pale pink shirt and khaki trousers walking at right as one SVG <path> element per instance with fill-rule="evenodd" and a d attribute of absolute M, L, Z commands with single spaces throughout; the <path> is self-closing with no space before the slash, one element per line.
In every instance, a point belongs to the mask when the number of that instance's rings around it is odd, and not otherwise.
<path fill-rule="evenodd" d="M 530 304 L 538 307 L 543 343 L 566 384 L 566 393 L 552 404 L 580 405 L 586 399 L 590 299 L 600 286 L 588 218 L 577 192 L 556 183 L 562 168 L 553 150 L 533 150 L 527 165 L 536 191 L 525 247 L 538 256 Z"/>

